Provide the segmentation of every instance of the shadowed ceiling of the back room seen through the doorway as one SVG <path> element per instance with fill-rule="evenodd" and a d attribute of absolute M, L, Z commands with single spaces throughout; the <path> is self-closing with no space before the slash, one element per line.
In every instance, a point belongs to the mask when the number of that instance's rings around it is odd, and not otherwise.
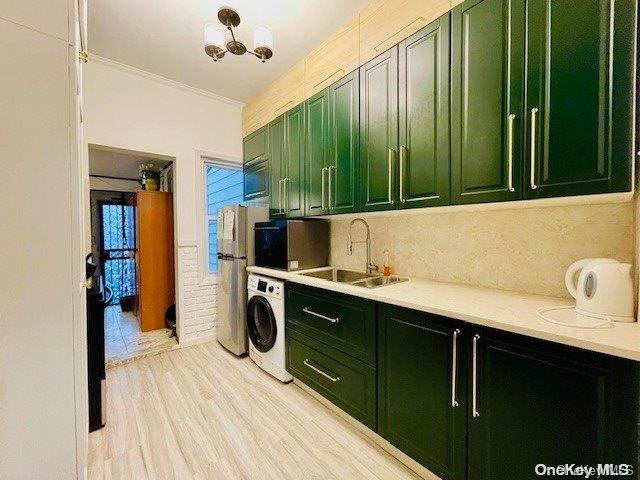
<path fill-rule="evenodd" d="M 163 169 L 172 159 L 101 145 L 89 145 L 89 175 L 137 180 L 141 163 Z"/>

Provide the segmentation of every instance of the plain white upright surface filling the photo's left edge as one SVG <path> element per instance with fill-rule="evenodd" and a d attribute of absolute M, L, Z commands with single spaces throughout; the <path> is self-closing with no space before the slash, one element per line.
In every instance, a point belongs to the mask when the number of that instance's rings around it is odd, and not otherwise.
<path fill-rule="evenodd" d="M 3 480 L 66 480 L 84 468 L 76 463 L 76 448 L 83 449 L 76 432 L 86 431 L 76 425 L 76 408 L 84 408 L 86 381 L 74 390 L 82 369 L 74 369 L 74 319 L 83 297 L 68 6 L 0 2 Z"/>

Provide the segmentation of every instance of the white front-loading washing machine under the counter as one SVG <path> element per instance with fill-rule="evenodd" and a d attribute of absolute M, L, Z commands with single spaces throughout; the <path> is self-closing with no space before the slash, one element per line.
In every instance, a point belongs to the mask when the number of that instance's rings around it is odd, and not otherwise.
<path fill-rule="evenodd" d="M 247 281 L 249 357 L 281 382 L 293 377 L 286 370 L 284 344 L 284 282 L 259 275 Z"/>

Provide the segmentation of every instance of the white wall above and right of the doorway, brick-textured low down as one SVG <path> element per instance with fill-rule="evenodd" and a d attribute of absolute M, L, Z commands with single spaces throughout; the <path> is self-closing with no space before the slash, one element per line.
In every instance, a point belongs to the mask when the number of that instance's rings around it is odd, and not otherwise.
<path fill-rule="evenodd" d="M 199 154 L 241 162 L 242 104 L 92 56 L 84 71 L 84 99 L 85 155 L 88 144 L 98 144 L 176 159 L 180 340 L 210 338 L 215 285 L 202 283 L 192 271 L 194 251 L 196 258 L 203 254 Z"/>

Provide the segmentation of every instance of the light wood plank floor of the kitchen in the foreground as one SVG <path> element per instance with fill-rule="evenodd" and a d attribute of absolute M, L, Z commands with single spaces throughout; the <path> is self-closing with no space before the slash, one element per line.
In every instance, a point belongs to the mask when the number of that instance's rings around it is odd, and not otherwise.
<path fill-rule="evenodd" d="M 89 435 L 92 480 L 419 478 L 217 342 L 109 369 L 107 422 Z"/>

